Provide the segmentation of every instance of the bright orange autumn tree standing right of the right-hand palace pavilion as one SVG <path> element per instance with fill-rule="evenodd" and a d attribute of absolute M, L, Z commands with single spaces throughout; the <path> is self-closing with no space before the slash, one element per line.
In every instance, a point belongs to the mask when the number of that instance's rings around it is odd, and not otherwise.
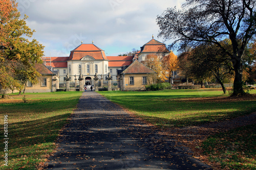
<path fill-rule="evenodd" d="M 163 71 L 168 74 L 169 83 L 173 79 L 173 72 L 178 69 L 178 57 L 171 51 L 169 55 L 163 56 L 161 59 Z"/>

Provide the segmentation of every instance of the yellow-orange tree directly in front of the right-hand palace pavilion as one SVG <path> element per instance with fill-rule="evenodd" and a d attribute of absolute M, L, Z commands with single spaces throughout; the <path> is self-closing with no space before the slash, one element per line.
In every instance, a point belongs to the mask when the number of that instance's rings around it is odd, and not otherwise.
<path fill-rule="evenodd" d="M 162 63 L 157 55 L 155 54 L 146 55 L 145 60 L 142 61 L 142 63 L 146 65 L 148 68 L 151 68 L 152 70 L 156 71 L 157 79 L 159 81 L 166 80 L 165 71 L 163 70 Z"/>

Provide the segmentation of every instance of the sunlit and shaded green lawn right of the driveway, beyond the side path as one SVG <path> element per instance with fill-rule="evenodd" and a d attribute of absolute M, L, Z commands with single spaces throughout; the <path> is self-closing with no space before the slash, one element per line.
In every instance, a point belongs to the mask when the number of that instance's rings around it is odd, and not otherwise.
<path fill-rule="evenodd" d="M 256 111 L 255 100 L 212 101 L 212 98 L 228 97 L 221 90 L 213 89 L 102 91 L 100 94 L 159 127 L 198 125 Z"/>

